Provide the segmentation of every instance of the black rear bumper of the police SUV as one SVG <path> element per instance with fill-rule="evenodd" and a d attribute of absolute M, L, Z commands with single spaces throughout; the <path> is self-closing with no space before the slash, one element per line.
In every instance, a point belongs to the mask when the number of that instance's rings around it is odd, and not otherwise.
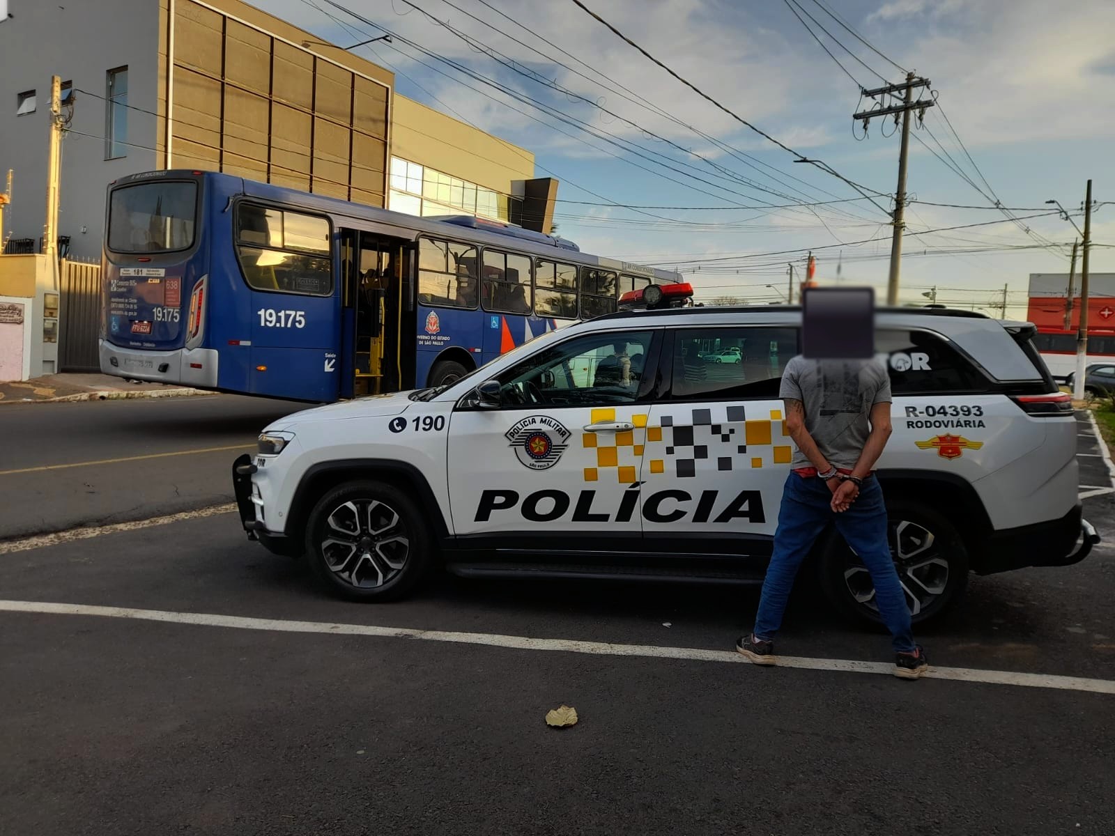
<path fill-rule="evenodd" d="M 1060 519 L 996 532 L 972 567 L 988 575 L 1028 566 L 1072 566 L 1087 557 L 1098 542 L 1095 527 L 1084 518 L 1083 506 L 1076 505 Z"/>

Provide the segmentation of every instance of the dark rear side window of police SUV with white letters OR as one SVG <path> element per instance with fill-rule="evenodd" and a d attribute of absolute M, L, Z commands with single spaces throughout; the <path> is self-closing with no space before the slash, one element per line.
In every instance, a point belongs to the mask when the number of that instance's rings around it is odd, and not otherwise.
<path fill-rule="evenodd" d="M 875 350 L 890 356 L 891 391 L 894 395 L 981 391 L 987 380 L 939 334 L 928 331 L 875 332 Z"/>

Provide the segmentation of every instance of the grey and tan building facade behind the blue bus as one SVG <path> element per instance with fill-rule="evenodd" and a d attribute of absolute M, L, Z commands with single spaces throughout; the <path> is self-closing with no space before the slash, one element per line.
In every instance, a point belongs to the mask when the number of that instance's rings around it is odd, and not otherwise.
<path fill-rule="evenodd" d="M 390 71 L 241 0 L 10 0 L 9 10 L 6 252 L 41 247 L 52 75 L 68 119 L 58 234 L 74 256 L 99 259 L 106 186 L 162 168 L 550 229 L 556 182 L 534 179 L 530 152 L 395 95 Z"/>

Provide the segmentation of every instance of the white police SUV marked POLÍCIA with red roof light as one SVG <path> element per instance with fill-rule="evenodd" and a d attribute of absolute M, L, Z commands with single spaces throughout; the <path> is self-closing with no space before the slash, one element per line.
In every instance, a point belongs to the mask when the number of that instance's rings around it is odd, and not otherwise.
<path fill-rule="evenodd" d="M 444 387 L 275 421 L 233 466 L 249 538 L 363 601 L 406 594 L 435 564 L 762 582 L 793 453 L 779 377 L 802 312 L 677 307 L 687 293 L 637 291 L 643 310 L 545 333 Z M 1067 566 L 1098 541 L 1077 499 L 1072 404 L 1034 333 L 966 311 L 878 312 L 894 393 L 878 476 L 918 621 L 954 603 L 969 572 Z M 837 610 L 878 615 L 838 535 L 813 564 Z"/>

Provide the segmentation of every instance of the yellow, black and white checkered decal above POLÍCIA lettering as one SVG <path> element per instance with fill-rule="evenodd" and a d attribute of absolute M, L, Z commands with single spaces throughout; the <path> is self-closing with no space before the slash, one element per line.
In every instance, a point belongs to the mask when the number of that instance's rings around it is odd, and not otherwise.
<path fill-rule="evenodd" d="M 585 432 L 582 444 L 597 451 L 597 466 L 584 468 L 585 482 L 598 482 L 602 473 L 615 470 L 622 485 L 638 480 L 640 465 L 649 457 L 643 478 L 670 475 L 696 478 L 697 463 L 716 459 L 718 470 L 743 470 L 766 465 L 788 465 L 793 458 L 789 434 L 779 409 L 760 407 L 716 406 L 690 409 L 688 420 L 677 415 L 663 415 L 661 426 L 649 426 L 649 416 L 632 415 L 633 430 L 622 432 Z M 755 416 L 749 417 L 748 411 Z M 614 421 L 615 409 L 593 409 L 591 422 Z M 627 420 L 627 419 L 624 419 Z M 785 444 L 775 444 L 777 440 Z M 669 467 L 667 467 L 669 465 Z"/>

